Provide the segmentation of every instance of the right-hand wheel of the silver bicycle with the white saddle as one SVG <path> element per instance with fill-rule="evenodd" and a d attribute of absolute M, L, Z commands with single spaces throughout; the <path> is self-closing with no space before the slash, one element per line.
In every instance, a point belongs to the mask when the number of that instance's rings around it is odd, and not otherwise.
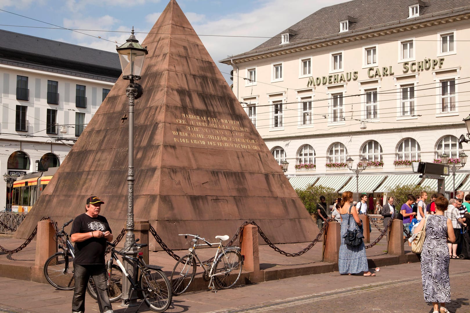
<path fill-rule="evenodd" d="M 214 266 L 214 279 L 222 289 L 235 285 L 242 274 L 242 255 L 234 250 L 220 253 Z"/>

